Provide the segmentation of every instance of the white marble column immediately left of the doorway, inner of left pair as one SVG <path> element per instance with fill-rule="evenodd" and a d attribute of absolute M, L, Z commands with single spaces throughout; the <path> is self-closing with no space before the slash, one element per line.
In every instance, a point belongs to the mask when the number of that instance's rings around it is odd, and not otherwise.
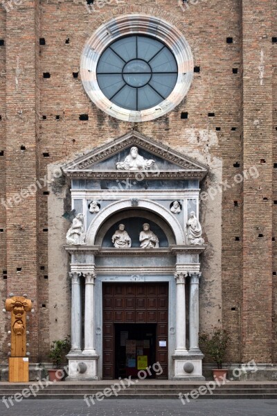
<path fill-rule="evenodd" d="M 94 273 L 83 273 L 85 284 L 84 300 L 84 351 L 83 354 L 96 355 L 94 346 Z"/>

